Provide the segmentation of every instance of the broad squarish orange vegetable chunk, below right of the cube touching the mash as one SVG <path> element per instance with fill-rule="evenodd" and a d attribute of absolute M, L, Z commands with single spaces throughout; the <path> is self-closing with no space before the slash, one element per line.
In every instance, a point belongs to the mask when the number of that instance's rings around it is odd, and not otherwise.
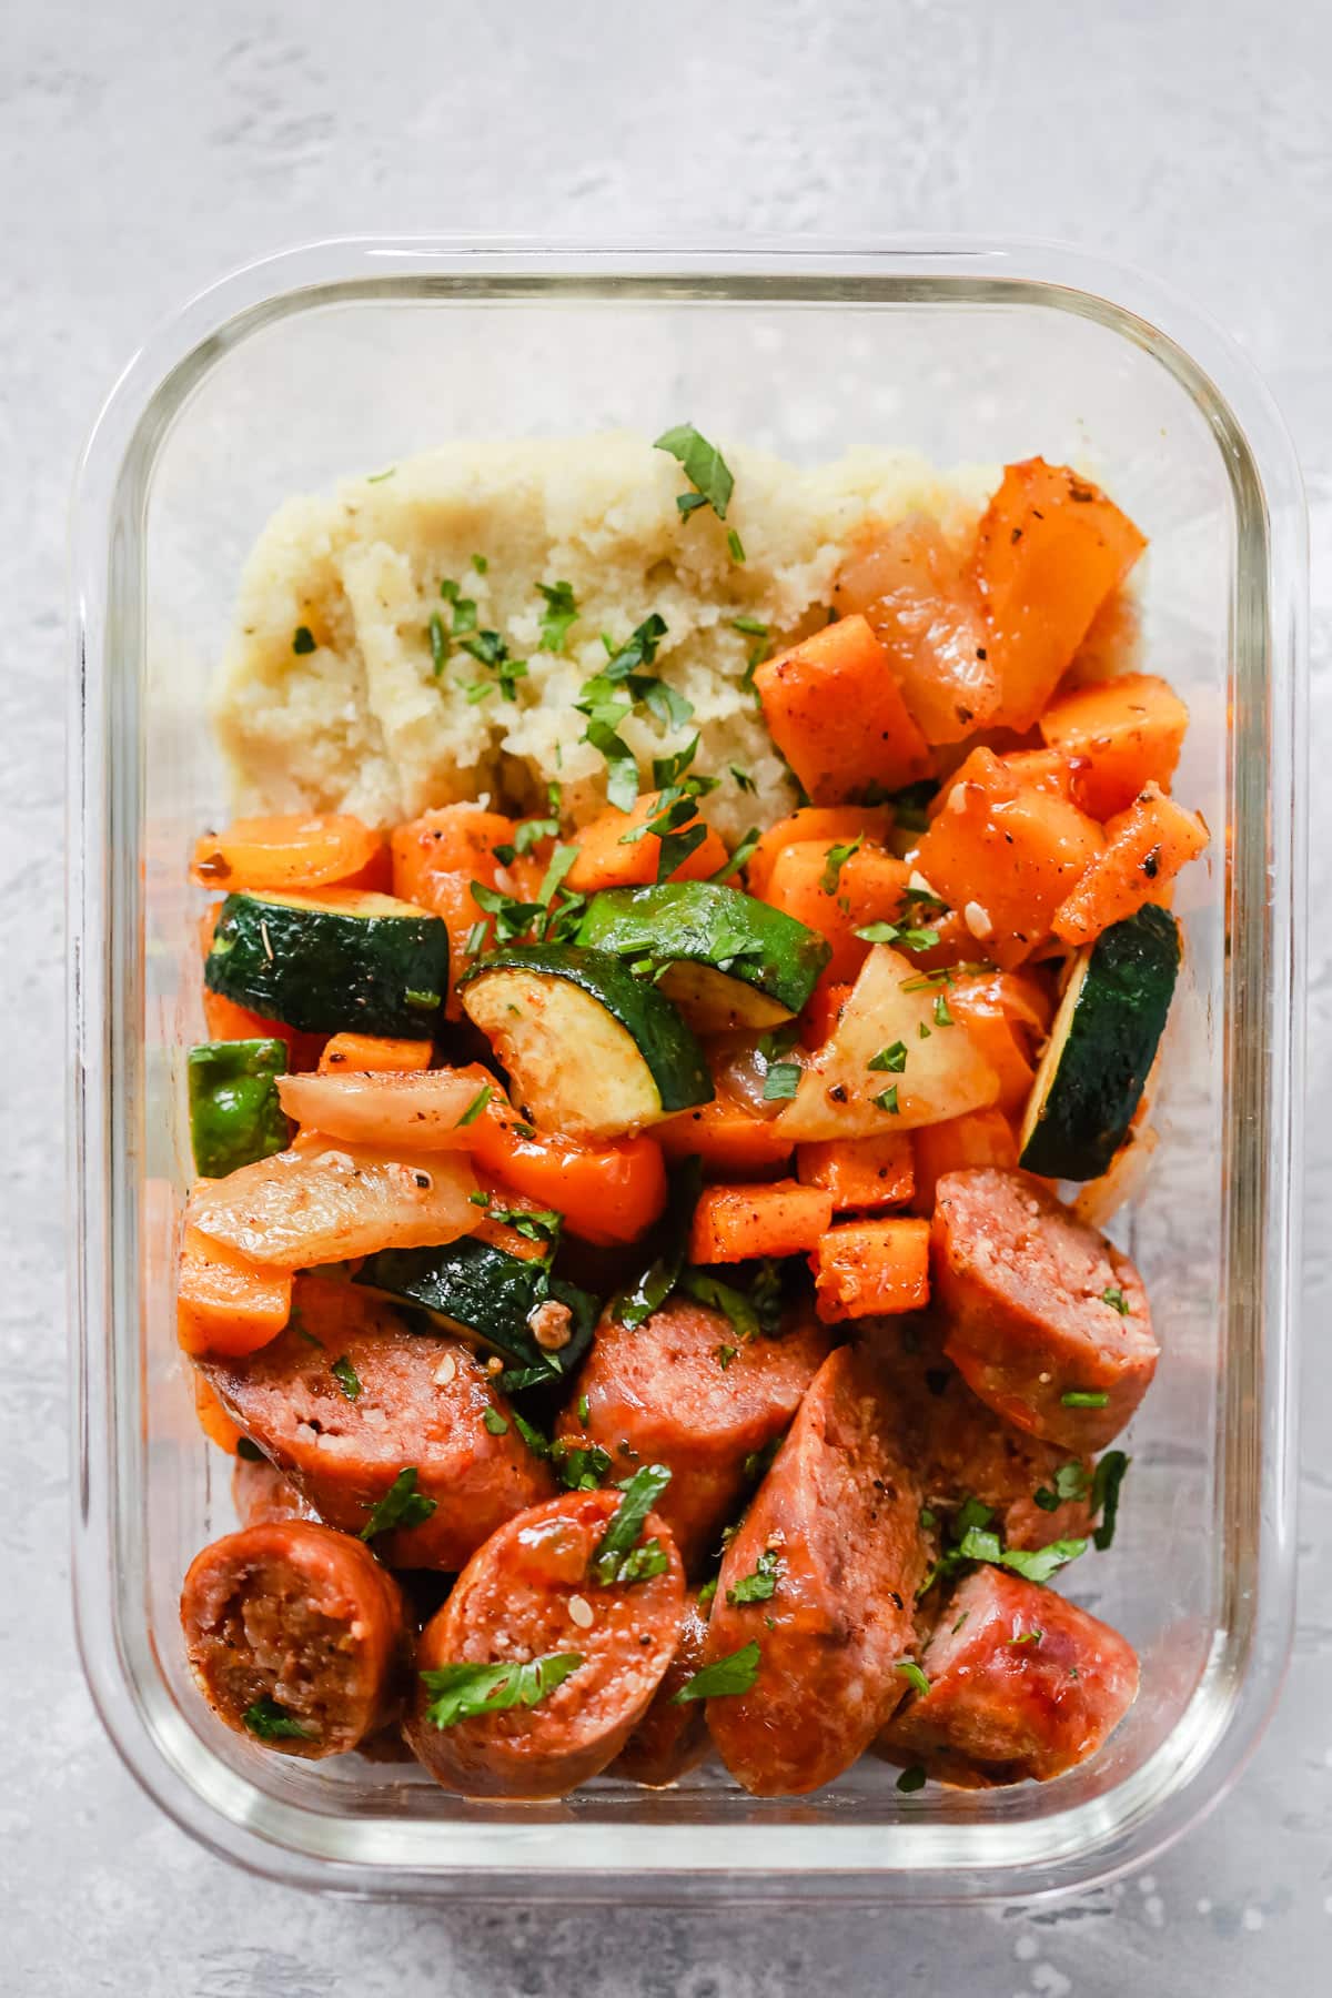
<path fill-rule="evenodd" d="M 1054 911 L 1102 845 L 1084 811 L 1020 783 L 991 749 L 975 749 L 923 837 L 917 865 L 983 955 L 1006 969 L 1044 941 Z"/>

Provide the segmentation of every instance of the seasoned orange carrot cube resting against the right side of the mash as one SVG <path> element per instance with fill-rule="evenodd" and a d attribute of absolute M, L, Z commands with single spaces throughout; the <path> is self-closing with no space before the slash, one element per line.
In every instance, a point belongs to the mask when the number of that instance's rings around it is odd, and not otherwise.
<path fill-rule="evenodd" d="M 841 617 L 755 673 L 769 733 L 815 805 L 925 777 L 931 753 L 865 617 Z"/>

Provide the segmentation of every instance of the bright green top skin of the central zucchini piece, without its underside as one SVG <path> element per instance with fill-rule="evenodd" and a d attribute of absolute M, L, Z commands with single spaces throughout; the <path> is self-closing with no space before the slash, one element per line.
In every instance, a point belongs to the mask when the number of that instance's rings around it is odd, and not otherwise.
<path fill-rule="evenodd" d="M 659 881 L 593 895 L 577 941 L 615 957 L 689 959 L 799 1013 L 833 955 L 783 909 L 717 881 Z"/>

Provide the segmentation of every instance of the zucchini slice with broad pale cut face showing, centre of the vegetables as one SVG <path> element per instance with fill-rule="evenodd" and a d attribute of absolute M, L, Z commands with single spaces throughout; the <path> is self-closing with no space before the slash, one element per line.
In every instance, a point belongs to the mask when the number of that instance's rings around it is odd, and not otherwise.
<path fill-rule="evenodd" d="M 685 1021 L 609 951 L 515 943 L 481 957 L 457 989 L 543 1131 L 623 1137 L 713 1101 Z"/>

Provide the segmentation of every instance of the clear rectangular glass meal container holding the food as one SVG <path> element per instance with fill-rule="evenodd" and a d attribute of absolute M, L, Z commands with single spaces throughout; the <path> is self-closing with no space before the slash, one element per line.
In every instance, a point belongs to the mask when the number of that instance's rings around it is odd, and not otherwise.
<path fill-rule="evenodd" d="M 1150 535 L 1144 663 L 1192 711 L 1178 791 L 1212 849 L 1178 897 L 1160 1145 L 1116 1225 L 1164 1355 L 1116 1546 L 1062 1576 L 1138 1646 L 1142 1694 L 1054 1784 L 901 1796 L 867 1756 L 811 1798 L 703 1770 L 473 1804 L 415 1768 L 264 1754 L 184 1666 L 184 1568 L 234 1524 L 176 1349 L 172 1253 L 200 1037 L 186 857 L 226 809 L 206 693 L 244 555 L 288 496 L 447 438 L 685 418 L 801 464 L 861 444 L 1072 460 Z M 76 513 L 76 1594 L 106 1726 L 180 1824 L 359 1892 L 919 1902 L 1104 1878 L 1218 1798 L 1292 1616 L 1302 619 L 1300 484 L 1260 384 L 1176 300 L 1064 252 L 326 244 L 228 278 L 132 362 Z"/>

